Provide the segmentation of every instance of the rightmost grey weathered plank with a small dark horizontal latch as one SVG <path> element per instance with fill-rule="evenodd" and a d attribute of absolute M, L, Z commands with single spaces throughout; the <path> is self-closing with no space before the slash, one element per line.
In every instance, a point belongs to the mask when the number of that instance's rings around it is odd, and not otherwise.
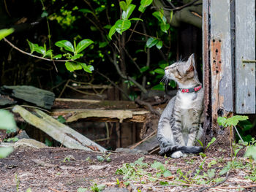
<path fill-rule="evenodd" d="M 255 113 L 255 0 L 236 0 L 236 112 Z"/>

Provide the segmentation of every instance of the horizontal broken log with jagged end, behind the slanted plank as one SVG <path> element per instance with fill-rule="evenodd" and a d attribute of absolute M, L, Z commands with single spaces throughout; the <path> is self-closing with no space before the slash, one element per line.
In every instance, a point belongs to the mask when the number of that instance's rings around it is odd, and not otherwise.
<path fill-rule="evenodd" d="M 105 122 L 134 122 L 143 123 L 146 115 L 150 113 L 147 110 L 93 110 L 93 109 L 69 109 L 53 110 L 50 115 L 53 117 L 63 116 L 66 122 L 76 120 L 94 120 Z"/>

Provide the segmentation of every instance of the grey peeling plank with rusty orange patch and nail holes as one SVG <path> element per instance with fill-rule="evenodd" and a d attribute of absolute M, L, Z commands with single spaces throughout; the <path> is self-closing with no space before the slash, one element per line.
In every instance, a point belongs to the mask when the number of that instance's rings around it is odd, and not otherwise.
<path fill-rule="evenodd" d="M 211 14 L 211 104 L 212 124 L 219 115 L 233 112 L 233 78 L 231 64 L 230 0 L 210 1 Z"/>

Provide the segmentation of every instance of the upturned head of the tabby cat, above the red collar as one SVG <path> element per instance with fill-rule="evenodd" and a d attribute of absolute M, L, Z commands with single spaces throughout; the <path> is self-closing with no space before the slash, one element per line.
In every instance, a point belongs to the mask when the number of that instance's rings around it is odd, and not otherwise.
<path fill-rule="evenodd" d="M 165 78 L 175 80 L 178 85 L 187 85 L 192 82 L 200 84 L 195 69 L 194 54 L 190 55 L 187 62 L 179 61 L 165 67 Z"/>

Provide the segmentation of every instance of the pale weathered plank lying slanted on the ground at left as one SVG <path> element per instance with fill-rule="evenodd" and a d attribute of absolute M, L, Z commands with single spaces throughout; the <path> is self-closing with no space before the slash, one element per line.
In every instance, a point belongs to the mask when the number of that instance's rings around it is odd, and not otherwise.
<path fill-rule="evenodd" d="M 36 115 L 33 115 L 23 107 L 16 105 L 13 107 L 12 111 L 19 113 L 19 115 L 26 120 L 27 123 L 44 131 L 65 147 L 90 151 L 96 150 L 100 152 L 106 151 L 104 147 L 101 147 L 97 143 L 91 141 L 91 139 L 88 139 L 72 128 L 69 128 L 69 126 L 66 126 L 63 123 L 60 123 L 58 120 L 51 118 L 41 110 L 35 109 L 34 112 Z"/>

